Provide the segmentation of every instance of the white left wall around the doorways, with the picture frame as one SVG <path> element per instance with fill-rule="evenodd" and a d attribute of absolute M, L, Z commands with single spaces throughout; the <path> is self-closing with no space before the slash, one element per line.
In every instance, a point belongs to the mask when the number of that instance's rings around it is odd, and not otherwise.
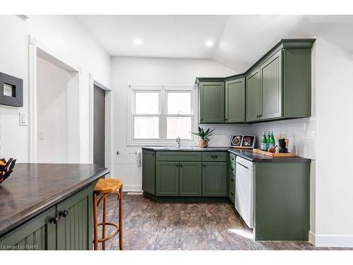
<path fill-rule="evenodd" d="M 23 107 L 0 105 L 0 157 L 28 161 L 28 126 L 19 126 L 18 112 L 28 113 L 28 35 L 52 52 L 80 66 L 81 161 L 88 162 L 89 73 L 97 81 L 110 85 L 110 57 L 88 35 L 73 16 L 0 16 L 0 71 L 23 79 Z"/>

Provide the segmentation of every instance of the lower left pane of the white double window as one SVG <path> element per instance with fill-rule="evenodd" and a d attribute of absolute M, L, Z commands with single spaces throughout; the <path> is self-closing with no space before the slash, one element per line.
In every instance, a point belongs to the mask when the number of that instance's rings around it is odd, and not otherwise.
<path fill-rule="evenodd" d="M 158 117 L 134 117 L 134 139 L 158 139 L 160 138 L 160 119 Z"/>

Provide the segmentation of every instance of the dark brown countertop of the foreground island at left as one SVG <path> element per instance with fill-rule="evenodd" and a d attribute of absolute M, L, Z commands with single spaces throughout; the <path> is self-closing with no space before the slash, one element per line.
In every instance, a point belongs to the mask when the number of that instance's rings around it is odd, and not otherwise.
<path fill-rule="evenodd" d="M 0 184 L 0 236 L 108 173 L 92 164 L 16 164 Z"/>

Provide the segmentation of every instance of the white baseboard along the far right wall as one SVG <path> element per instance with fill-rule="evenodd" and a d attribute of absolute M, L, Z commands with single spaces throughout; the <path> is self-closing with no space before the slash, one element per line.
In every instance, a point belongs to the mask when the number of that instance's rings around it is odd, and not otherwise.
<path fill-rule="evenodd" d="M 353 247 L 352 235 L 315 235 L 309 232 L 309 242 L 315 247 Z"/>

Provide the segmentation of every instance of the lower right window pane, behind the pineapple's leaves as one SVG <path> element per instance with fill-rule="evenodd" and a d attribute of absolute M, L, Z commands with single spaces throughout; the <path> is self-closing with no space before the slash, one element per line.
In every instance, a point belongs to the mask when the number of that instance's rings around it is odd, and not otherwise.
<path fill-rule="evenodd" d="M 167 139 L 191 139 L 191 117 L 167 117 Z"/>

